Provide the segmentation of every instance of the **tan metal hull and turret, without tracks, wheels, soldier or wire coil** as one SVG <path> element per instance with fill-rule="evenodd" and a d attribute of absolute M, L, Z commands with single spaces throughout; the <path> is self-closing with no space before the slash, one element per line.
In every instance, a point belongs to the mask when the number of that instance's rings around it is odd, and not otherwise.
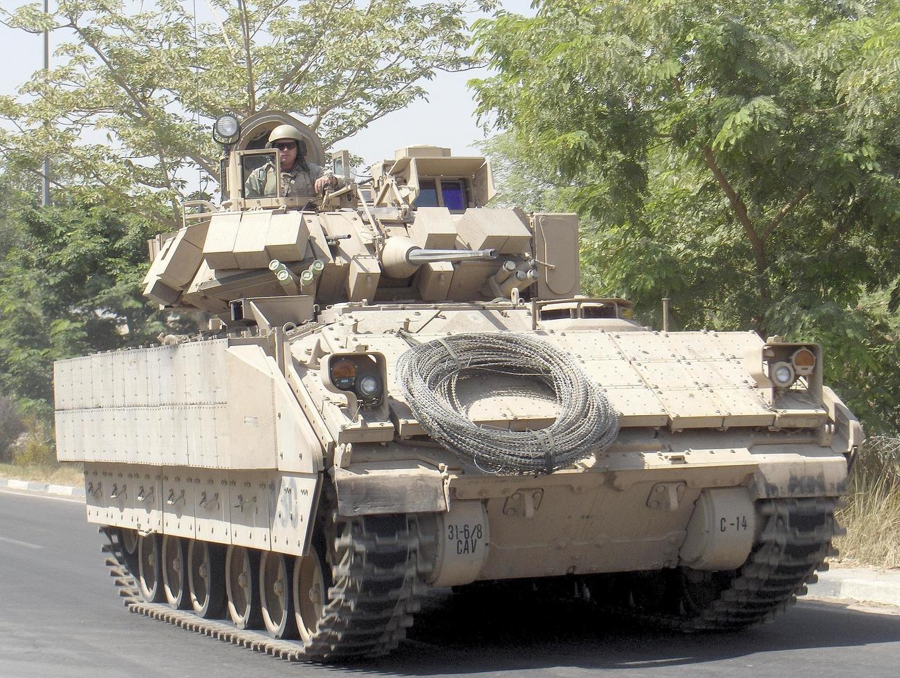
<path fill-rule="evenodd" d="M 168 338 L 54 366 L 58 454 L 85 463 L 88 520 L 304 555 L 317 516 L 352 526 L 352 543 L 338 540 L 347 553 L 362 538 L 375 553 L 369 530 L 406 514 L 397 535 L 413 544 L 415 533 L 421 560 L 404 567 L 437 586 L 729 570 L 761 553 L 761 505 L 829 520 L 861 429 L 822 387 L 820 348 L 646 330 L 626 300 L 578 296 L 575 215 L 486 206 L 485 158 L 401 149 L 373 167 L 371 185 L 351 181 L 315 212 L 298 198 L 244 199 L 242 155 L 258 155 L 285 122 L 279 112 L 247 121 L 227 199 L 151 243 L 147 294 L 213 314 L 228 339 Z M 323 163 L 315 134 L 297 129 Z M 347 153 L 338 158 L 346 165 Z M 397 361 L 462 332 L 535 336 L 575 357 L 619 414 L 615 444 L 518 476 L 485 473 L 430 438 L 401 395 Z M 815 366 L 775 388 L 773 366 L 799 348 Z M 369 356 L 383 397 L 338 387 L 329 360 L 344 354 Z M 516 375 L 464 379 L 455 398 L 492 428 L 542 429 L 559 413 L 545 385 Z M 410 595 L 422 581 L 410 580 Z"/>

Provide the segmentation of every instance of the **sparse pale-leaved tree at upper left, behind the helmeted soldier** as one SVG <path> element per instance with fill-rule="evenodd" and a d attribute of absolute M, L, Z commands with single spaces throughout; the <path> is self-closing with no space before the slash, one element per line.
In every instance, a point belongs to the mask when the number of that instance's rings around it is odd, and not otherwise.
<path fill-rule="evenodd" d="M 8 25 L 65 40 L 60 65 L 0 98 L 0 119 L 14 124 L 0 153 L 31 172 L 49 154 L 58 194 L 102 195 L 171 227 L 185 173 L 219 179 L 211 119 L 292 111 L 329 147 L 424 96 L 437 70 L 473 65 L 466 1 L 210 0 L 201 23 L 177 0 L 0 10 Z"/>

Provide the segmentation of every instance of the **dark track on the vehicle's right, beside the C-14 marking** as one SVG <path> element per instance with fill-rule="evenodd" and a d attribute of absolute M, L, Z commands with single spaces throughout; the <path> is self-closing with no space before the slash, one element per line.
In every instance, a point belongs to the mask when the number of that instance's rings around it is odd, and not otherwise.
<path fill-rule="evenodd" d="M 834 519 L 837 499 L 764 500 L 759 541 L 734 573 L 683 574 L 662 596 L 658 608 L 608 609 L 643 623 L 680 631 L 738 630 L 770 620 L 815 583 L 815 570 L 827 570 L 831 546 L 843 531 Z M 672 573 L 680 574 L 680 573 Z M 702 599 L 702 600 L 698 600 Z"/>

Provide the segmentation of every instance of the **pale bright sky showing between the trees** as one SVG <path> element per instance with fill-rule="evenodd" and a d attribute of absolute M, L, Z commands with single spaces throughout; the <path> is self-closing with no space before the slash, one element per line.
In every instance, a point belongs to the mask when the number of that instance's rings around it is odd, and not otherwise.
<path fill-rule="evenodd" d="M 192 0 L 185 0 L 185 4 Z M 510 12 L 533 14 L 531 0 L 500 0 Z M 0 0 L 4 9 L 25 5 L 23 0 Z M 50 6 L 54 0 L 50 0 Z M 201 5 L 201 3 L 197 3 Z M 52 37 L 50 43 L 52 53 Z M 52 54 L 50 59 L 53 59 Z M 0 24 L 0 95 L 14 95 L 33 71 L 43 63 L 43 38 L 22 31 L 14 31 Z M 432 144 L 453 149 L 456 155 L 478 155 L 474 143 L 484 139 L 475 122 L 472 93 L 465 83 L 473 77 L 484 77 L 483 69 L 465 73 L 437 73 L 424 86 L 428 101 L 419 101 L 403 111 L 374 122 L 364 131 L 339 144 L 365 158 L 372 164 L 383 158 L 393 158 L 395 149 L 413 144 Z"/>

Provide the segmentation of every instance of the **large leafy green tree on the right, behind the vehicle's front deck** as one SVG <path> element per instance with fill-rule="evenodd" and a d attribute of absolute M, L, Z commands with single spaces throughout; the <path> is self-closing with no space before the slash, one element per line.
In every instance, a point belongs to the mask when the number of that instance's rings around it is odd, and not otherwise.
<path fill-rule="evenodd" d="M 819 339 L 900 426 L 900 5 L 548 0 L 475 30 L 480 113 L 596 224 L 599 290 Z"/>

